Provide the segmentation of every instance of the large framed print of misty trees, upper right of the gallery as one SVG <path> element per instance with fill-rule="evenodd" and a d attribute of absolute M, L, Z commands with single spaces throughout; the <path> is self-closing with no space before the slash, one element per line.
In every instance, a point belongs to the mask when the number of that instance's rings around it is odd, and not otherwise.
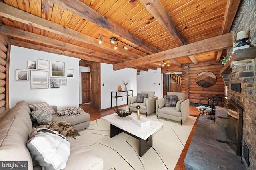
<path fill-rule="evenodd" d="M 50 61 L 50 77 L 65 78 L 65 63 L 60 61 Z"/>

